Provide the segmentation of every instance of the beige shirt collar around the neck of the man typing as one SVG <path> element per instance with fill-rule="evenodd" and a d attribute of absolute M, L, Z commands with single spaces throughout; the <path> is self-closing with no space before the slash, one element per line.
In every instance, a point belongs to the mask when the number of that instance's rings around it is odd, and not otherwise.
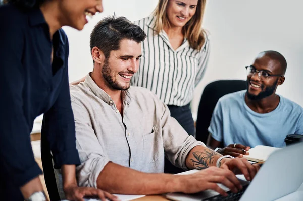
<path fill-rule="evenodd" d="M 91 78 L 90 76 L 91 72 L 86 76 L 84 84 L 86 84 L 90 90 L 101 100 L 103 100 L 104 102 L 106 102 L 108 105 L 113 105 L 114 101 L 113 99 L 110 97 L 110 95 L 108 95 L 103 89 L 101 89 Z M 132 97 L 129 93 L 129 90 L 123 90 L 122 91 L 122 100 L 124 103 L 126 103 L 127 105 L 130 104 Z M 111 102 L 112 101 L 112 102 Z"/>

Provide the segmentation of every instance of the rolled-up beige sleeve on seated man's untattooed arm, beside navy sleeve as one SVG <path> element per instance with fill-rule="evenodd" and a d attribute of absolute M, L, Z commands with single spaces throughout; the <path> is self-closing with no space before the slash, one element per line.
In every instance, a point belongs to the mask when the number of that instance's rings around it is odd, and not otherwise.
<path fill-rule="evenodd" d="M 76 145 L 81 165 L 76 168 L 78 185 L 97 187 L 97 178 L 110 161 L 92 128 L 90 115 L 84 104 L 72 96 L 72 108 L 76 126 Z"/>

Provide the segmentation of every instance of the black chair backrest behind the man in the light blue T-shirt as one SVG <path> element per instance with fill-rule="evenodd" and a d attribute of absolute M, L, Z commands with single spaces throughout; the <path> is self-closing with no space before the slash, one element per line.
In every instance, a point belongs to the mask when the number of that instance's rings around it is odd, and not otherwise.
<path fill-rule="evenodd" d="M 218 80 L 203 90 L 196 120 L 196 139 L 207 143 L 208 127 L 218 100 L 229 93 L 246 89 L 244 80 Z"/>

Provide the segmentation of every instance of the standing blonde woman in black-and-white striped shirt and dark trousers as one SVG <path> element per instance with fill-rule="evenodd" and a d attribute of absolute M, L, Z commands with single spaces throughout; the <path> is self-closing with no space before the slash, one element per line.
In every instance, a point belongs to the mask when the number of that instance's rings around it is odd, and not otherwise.
<path fill-rule="evenodd" d="M 131 84 L 156 93 L 189 135 L 194 135 L 189 103 L 210 51 L 201 28 L 205 4 L 206 0 L 159 0 L 151 16 L 136 22 L 147 38 Z"/>

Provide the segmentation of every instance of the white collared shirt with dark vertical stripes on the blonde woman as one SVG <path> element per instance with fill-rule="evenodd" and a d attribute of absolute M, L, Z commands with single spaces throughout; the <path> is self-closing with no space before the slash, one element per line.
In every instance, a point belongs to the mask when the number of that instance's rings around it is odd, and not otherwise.
<path fill-rule="evenodd" d="M 200 51 L 191 48 L 186 38 L 174 50 L 164 30 L 155 35 L 155 21 L 150 16 L 135 22 L 147 37 L 142 42 L 140 68 L 132 78 L 132 85 L 153 91 L 167 105 L 187 105 L 207 66 L 209 37 L 206 35 Z"/>

